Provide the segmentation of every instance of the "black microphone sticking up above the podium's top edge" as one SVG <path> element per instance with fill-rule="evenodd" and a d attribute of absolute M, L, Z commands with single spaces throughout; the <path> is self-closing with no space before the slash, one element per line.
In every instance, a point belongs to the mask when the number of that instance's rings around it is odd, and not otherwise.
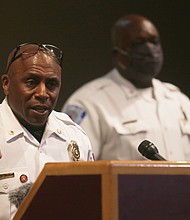
<path fill-rule="evenodd" d="M 144 140 L 139 144 L 138 151 L 150 160 L 166 160 L 159 154 L 157 147 L 147 140 Z"/>

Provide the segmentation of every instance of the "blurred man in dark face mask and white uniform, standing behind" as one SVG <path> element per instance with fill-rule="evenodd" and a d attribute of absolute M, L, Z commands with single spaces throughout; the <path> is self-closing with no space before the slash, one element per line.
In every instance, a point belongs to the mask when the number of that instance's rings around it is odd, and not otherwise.
<path fill-rule="evenodd" d="M 190 101 L 158 76 L 160 36 L 141 15 L 121 17 L 112 29 L 114 68 L 78 89 L 63 111 L 88 134 L 96 159 L 141 160 L 148 139 L 167 160 L 190 160 Z"/>

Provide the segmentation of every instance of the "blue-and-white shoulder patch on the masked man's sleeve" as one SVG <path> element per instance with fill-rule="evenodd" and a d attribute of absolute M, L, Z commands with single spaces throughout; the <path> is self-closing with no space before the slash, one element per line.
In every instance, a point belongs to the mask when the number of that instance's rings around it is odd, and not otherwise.
<path fill-rule="evenodd" d="M 68 105 L 66 114 L 77 124 L 80 124 L 86 116 L 86 111 L 78 105 Z"/>

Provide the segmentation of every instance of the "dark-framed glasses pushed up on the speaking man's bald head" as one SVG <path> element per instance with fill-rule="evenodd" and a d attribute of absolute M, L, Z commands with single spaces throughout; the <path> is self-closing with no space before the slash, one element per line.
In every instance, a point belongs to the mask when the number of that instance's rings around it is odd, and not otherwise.
<path fill-rule="evenodd" d="M 38 51 L 45 52 L 49 56 L 55 58 L 58 64 L 62 67 L 63 52 L 58 47 L 51 44 L 24 43 L 20 44 L 12 51 L 11 54 L 13 55 L 9 58 L 6 72 L 8 72 L 11 64 L 19 57 L 26 59 L 30 56 L 34 56 Z"/>

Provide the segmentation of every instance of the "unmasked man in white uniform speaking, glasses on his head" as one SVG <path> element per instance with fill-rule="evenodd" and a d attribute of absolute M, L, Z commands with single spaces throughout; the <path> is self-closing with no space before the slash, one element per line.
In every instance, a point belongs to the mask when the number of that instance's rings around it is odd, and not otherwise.
<path fill-rule="evenodd" d="M 9 55 L 0 105 L 0 219 L 12 219 L 9 193 L 34 182 L 46 162 L 93 160 L 85 132 L 54 111 L 60 87 L 62 51 L 26 43 Z"/>

